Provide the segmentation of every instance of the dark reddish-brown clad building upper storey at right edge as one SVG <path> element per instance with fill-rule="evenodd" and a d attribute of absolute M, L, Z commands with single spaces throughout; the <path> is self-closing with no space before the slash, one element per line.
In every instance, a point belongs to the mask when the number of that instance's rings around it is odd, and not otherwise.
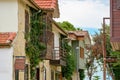
<path fill-rule="evenodd" d="M 111 45 L 114 51 L 120 50 L 120 1 L 110 0 Z"/>

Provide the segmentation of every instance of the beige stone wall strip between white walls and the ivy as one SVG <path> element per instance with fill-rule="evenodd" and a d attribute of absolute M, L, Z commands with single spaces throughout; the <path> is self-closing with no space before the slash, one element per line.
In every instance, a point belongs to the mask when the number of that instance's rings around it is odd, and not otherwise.
<path fill-rule="evenodd" d="M 15 64 L 16 56 L 24 56 L 24 57 L 26 56 L 25 54 L 25 10 L 27 10 L 28 13 L 30 13 L 29 8 L 28 6 L 26 6 L 25 2 L 23 2 L 22 0 L 18 0 L 18 32 L 13 43 L 14 64 Z M 28 62 L 29 60 L 27 60 L 27 62 L 25 63 L 28 63 Z M 14 73 L 14 79 L 15 79 L 15 73 Z M 19 80 L 24 80 L 24 70 L 19 70 Z"/>

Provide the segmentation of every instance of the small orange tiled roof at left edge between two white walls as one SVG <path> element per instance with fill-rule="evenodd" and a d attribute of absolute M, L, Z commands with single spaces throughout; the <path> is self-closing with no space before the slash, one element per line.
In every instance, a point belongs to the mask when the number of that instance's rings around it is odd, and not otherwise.
<path fill-rule="evenodd" d="M 15 36 L 15 32 L 0 32 L 0 45 L 9 45 Z"/>

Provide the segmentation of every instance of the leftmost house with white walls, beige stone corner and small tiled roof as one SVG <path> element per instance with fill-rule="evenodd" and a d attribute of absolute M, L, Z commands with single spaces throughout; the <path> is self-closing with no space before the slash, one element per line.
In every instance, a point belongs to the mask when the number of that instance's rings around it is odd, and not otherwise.
<path fill-rule="evenodd" d="M 25 54 L 25 33 L 29 27 L 33 0 L 0 1 L 0 79 L 30 80 L 29 59 Z"/>

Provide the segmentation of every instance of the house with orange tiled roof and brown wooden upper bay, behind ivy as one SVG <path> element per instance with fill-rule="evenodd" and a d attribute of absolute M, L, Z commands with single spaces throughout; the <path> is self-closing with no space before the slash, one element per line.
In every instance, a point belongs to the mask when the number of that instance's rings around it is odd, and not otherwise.
<path fill-rule="evenodd" d="M 55 71 L 60 67 L 53 66 L 51 60 L 53 60 L 54 37 L 56 37 L 53 33 L 53 27 L 55 26 L 53 18 L 59 17 L 58 0 L 34 1 L 43 13 L 42 22 L 44 22 L 45 25 L 43 26 L 43 34 L 40 37 L 40 41 L 46 46 L 46 49 L 40 54 L 40 58 L 43 59 L 43 61 L 41 61 L 38 66 L 39 73 L 37 80 L 57 80 L 55 79 Z M 59 45 L 57 47 L 59 47 Z M 57 61 L 59 62 L 59 60 Z M 59 70 L 61 71 L 61 69 Z"/>

